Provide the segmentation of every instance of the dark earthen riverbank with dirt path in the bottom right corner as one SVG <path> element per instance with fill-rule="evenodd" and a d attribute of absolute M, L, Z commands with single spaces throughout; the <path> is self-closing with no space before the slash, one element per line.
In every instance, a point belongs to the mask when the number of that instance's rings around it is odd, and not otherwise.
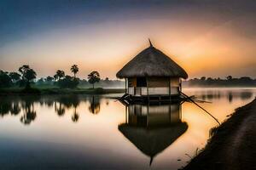
<path fill-rule="evenodd" d="M 237 108 L 185 170 L 256 169 L 256 99 Z"/>

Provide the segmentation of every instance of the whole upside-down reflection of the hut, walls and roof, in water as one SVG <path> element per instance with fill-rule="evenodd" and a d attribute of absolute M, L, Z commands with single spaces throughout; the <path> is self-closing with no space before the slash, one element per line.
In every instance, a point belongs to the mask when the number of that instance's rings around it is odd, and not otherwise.
<path fill-rule="evenodd" d="M 119 125 L 119 131 L 150 157 L 149 165 L 188 129 L 182 122 L 180 104 L 128 105 L 125 111 L 125 123 Z"/>

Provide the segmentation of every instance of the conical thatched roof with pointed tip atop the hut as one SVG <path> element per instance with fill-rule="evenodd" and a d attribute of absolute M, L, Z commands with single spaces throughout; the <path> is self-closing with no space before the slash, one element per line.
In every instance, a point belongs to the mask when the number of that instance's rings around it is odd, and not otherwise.
<path fill-rule="evenodd" d="M 150 46 L 131 59 L 116 74 L 116 77 L 183 77 L 186 79 L 188 74 L 166 54 L 154 48 L 150 42 Z"/>

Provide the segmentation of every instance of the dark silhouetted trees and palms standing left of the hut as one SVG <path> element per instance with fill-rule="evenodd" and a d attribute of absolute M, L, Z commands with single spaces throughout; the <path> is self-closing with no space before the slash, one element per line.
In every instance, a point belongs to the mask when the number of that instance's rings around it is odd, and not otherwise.
<path fill-rule="evenodd" d="M 72 65 L 70 71 L 73 76 L 65 74 L 65 71 L 57 70 L 53 77 L 40 78 L 36 81 L 37 73 L 29 65 L 20 66 L 18 72 L 0 71 L 0 88 L 10 88 L 14 86 L 31 88 L 31 84 L 48 83 L 60 88 L 77 88 L 81 82 L 76 74 L 79 72 L 78 65 Z M 92 71 L 88 75 L 88 82 L 95 88 L 95 83 L 101 80 L 98 71 Z"/>

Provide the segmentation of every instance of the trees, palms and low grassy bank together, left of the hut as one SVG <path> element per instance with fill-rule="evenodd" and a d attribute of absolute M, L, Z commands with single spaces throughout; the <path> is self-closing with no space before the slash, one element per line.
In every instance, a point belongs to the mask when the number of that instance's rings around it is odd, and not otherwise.
<path fill-rule="evenodd" d="M 37 73 L 29 65 L 22 65 L 17 72 L 0 71 L 0 94 L 113 94 L 124 93 L 124 89 L 113 89 L 112 84 L 121 81 L 110 81 L 100 79 L 97 71 L 92 71 L 87 80 L 76 77 L 79 72 L 78 65 L 72 65 L 73 77 L 66 75 L 64 71 L 57 70 L 54 77 L 41 77 L 36 81 Z M 90 88 L 93 84 L 93 88 Z M 108 87 L 112 87 L 109 88 Z M 96 86 L 96 88 L 95 88 Z M 103 89 L 104 87 L 105 89 Z M 107 88 L 106 88 L 107 87 Z"/>

